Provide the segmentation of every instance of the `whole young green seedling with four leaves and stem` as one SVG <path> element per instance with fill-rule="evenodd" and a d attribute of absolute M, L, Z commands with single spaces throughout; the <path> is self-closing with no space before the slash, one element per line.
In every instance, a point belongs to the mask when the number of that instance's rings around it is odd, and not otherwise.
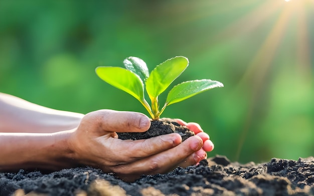
<path fill-rule="evenodd" d="M 108 84 L 135 97 L 148 111 L 153 120 L 159 119 L 165 108 L 173 103 L 188 99 L 206 90 L 223 87 L 218 81 L 209 79 L 182 82 L 168 93 L 166 103 L 159 110 L 158 96 L 188 67 L 186 57 L 174 57 L 156 66 L 149 74 L 146 63 L 137 57 L 128 57 L 121 67 L 97 67 L 96 74 Z M 151 107 L 144 97 L 144 87 Z"/>

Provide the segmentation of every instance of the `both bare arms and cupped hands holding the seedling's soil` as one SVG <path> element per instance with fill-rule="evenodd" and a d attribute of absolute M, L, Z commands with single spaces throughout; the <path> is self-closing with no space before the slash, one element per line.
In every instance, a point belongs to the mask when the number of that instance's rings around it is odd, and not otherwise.
<path fill-rule="evenodd" d="M 184 142 L 177 133 L 121 140 L 116 132 L 146 131 L 150 119 L 127 111 L 59 111 L 3 93 L 0 108 L 0 171 L 90 165 L 134 181 L 141 174 L 198 164 L 214 148 L 197 123 L 181 119 L 176 121 L 196 133 Z"/>

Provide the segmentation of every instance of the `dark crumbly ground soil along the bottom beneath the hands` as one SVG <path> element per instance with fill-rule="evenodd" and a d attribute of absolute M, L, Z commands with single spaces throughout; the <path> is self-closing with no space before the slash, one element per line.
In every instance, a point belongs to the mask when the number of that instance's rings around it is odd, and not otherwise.
<path fill-rule="evenodd" d="M 100 169 L 0 173 L 0 195 L 314 195 L 314 158 L 239 164 L 224 156 L 124 182 Z"/>

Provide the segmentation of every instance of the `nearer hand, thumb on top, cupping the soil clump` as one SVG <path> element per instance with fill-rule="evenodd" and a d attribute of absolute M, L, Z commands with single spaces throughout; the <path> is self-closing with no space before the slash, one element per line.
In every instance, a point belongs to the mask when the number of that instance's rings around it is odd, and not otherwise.
<path fill-rule="evenodd" d="M 125 181 L 133 181 L 142 174 L 165 173 L 178 165 L 188 166 L 200 161 L 194 153 L 204 146 L 205 137 L 202 135 L 182 142 L 178 133 L 143 140 L 121 140 L 116 134 L 144 132 L 149 126 L 149 118 L 141 113 L 98 110 L 83 117 L 78 128 L 71 133 L 68 146 L 72 158 L 79 164 L 113 172 Z M 197 132 L 192 125 L 191 128 Z"/>

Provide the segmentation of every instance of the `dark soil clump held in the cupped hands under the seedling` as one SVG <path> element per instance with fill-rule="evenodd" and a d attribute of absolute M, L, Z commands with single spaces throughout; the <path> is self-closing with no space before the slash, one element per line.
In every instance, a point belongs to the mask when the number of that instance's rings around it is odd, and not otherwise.
<path fill-rule="evenodd" d="M 152 120 L 150 128 L 142 133 L 117 133 L 119 139 L 148 139 L 158 135 L 164 135 L 169 133 L 179 133 L 182 137 L 182 141 L 186 140 L 192 135 L 195 135 L 193 131 L 186 126 L 181 126 L 179 123 L 169 120 Z"/>

